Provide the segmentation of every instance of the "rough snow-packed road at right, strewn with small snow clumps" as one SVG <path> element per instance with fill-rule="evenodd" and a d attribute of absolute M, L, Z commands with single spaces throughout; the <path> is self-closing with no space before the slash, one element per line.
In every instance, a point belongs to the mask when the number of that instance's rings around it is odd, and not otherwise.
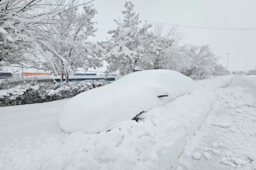
<path fill-rule="evenodd" d="M 234 76 L 217 100 L 172 169 L 256 169 L 256 77 Z"/>

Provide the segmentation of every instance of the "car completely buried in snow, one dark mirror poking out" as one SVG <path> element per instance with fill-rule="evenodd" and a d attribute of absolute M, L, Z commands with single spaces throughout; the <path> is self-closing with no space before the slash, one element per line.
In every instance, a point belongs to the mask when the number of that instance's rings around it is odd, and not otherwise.
<path fill-rule="evenodd" d="M 61 129 L 98 133 L 193 91 L 193 80 L 172 70 L 131 73 L 73 97 L 60 113 Z"/>

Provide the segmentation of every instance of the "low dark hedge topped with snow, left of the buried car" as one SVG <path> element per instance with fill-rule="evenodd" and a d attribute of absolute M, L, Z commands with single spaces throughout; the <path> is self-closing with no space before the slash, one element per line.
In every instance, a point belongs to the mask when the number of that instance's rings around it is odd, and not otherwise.
<path fill-rule="evenodd" d="M 54 84 L 32 82 L 8 90 L 0 90 L 0 107 L 66 99 L 108 83 L 103 80 Z"/>

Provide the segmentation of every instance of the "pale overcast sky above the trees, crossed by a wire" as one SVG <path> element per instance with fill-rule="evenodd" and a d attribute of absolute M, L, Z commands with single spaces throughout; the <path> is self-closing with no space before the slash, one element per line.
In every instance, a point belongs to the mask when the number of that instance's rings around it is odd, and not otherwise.
<path fill-rule="evenodd" d="M 256 28 L 255 0 L 136 0 L 132 1 L 141 20 L 194 25 L 199 27 Z M 109 37 L 108 31 L 115 29 L 113 22 L 122 16 L 125 0 L 96 0 L 93 2 L 98 14 L 98 32 L 92 40 L 103 41 Z M 169 25 L 165 29 L 170 28 Z M 255 69 L 256 30 L 234 31 L 217 29 L 196 29 L 179 27 L 184 33 L 184 42 L 193 45 L 209 44 L 220 63 L 226 66 L 229 53 L 228 70 Z M 102 69 L 100 69 L 102 70 Z"/>

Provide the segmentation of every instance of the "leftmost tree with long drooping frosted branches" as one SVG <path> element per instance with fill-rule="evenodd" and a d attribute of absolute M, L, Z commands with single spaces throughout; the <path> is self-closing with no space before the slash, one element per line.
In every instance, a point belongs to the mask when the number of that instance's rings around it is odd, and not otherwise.
<path fill-rule="evenodd" d="M 23 65 L 42 67 L 47 61 L 53 70 L 72 69 L 61 50 L 54 48 L 60 39 L 57 25 L 61 14 L 91 1 L 78 0 L 1 0 L 0 1 L 0 67 Z M 62 19 L 63 20 L 63 19 Z M 64 38 L 65 39 L 65 38 Z M 59 48 L 60 49 L 60 48 Z M 62 63 L 56 62 L 58 58 Z"/>

